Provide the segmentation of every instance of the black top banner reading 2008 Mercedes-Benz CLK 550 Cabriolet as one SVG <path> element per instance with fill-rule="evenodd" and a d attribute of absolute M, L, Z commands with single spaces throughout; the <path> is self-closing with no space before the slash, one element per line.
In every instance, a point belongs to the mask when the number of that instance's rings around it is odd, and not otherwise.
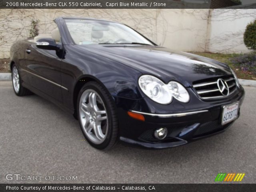
<path fill-rule="evenodd" d="M 247 1 L 248 3 L 248 1 Z M 250 2 L 249 2 L 250 3 Z M 256 0 L 1 0 L 1 9 L 179 9 L 256 8 Z"/>

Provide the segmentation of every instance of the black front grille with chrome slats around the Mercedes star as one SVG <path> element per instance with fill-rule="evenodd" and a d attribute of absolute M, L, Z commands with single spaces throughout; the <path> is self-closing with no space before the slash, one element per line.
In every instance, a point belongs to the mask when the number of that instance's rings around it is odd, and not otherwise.
<path fill-rule="evenodd" d="M 230 96 L 236 92 L 236 80 L 232 76 L 226 76 L 226 77 L 221 77 L 227 84 L 229 88 L 229 94 L 227 96 Z M 225 98 L 219 88 L 218 88 L 218 79 L 219 78 L 214 78 L 214 79 L 208 79 L 208 80 L 201 80 L 198 82 L 195 82 L 193 84 L 193 87 L 195 88 L 197 94 L 200 96 L 202 99 L 221 99 Z M 225 92 L 224 92 L 225 94 Z"/>

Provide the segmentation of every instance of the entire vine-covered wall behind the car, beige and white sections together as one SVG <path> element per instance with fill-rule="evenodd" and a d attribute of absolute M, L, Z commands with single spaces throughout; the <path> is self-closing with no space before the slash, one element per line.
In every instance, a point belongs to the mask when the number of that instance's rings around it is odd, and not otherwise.
<path fill-rule="evenodd" d="M 58 16 L 122 22 L 174 50 L 230 53 L 249 51 L 243 33 L 256 9 L 1 9 L 0 58 L 9 58 L 12 43 L 30 36 L 32 19 L 39 20 L 39 33 L 49 33 Z"/>

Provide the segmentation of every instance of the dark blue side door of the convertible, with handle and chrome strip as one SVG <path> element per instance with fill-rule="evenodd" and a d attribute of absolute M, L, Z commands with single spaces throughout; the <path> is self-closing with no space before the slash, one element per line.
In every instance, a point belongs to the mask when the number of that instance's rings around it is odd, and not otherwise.
<path fill-rule="evenodd" d="M 45 36 L 42 35 L 42 38 Z M 55 50 L 44 50 L 36 47 L 36 41 L 39 39 L 40 35 L 35 37 L 34 42 L 31 42 L 26 48 L 25 70 L 29 75 L 30 84 L 54 100 L 62 102 L 61 58 L 57 56 Z M 56 40 L 60 42 L 60 39 Z"/>

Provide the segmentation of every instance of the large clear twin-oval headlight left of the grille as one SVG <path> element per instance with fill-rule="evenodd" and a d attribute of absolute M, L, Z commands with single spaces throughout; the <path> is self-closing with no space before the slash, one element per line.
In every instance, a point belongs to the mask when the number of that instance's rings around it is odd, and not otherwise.
<path fill-rule="evenodd" d="M 189 101 L 187 90 L 178 82 L 171 81 L 164 84 L 160 79 L 151 75 L 141 76 L 138 82 L 144 94 L 157 103 L 169 104 L 172 102 L 172 97 L 180 102 Z"/>

